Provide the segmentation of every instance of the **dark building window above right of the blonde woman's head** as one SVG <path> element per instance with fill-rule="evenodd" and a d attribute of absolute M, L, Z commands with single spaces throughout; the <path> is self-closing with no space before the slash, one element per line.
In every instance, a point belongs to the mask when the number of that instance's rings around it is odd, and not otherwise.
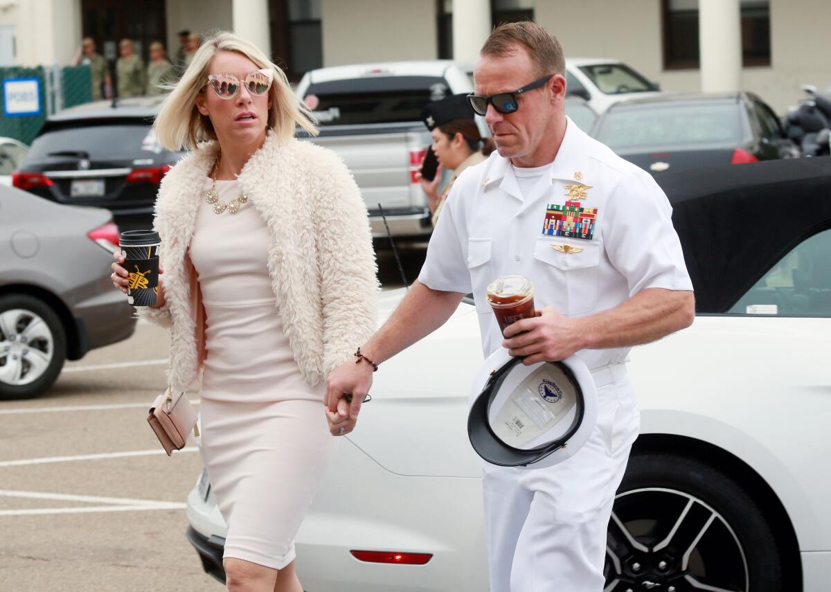
<path fill-rule="evenodd" d="M 270 0 L 275 62 L 290 80 L 323 66 L 320 0 Z"/>

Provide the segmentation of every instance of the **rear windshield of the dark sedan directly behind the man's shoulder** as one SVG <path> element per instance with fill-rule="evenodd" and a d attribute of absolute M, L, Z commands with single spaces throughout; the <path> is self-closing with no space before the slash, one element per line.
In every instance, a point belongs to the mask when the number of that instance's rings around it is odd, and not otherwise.
<path fill-rule="evenodd" d="M 612 149 L 741 141 L 739 109 L 731 103 L 701 102 L 612 107 L 595 133 Z"/>

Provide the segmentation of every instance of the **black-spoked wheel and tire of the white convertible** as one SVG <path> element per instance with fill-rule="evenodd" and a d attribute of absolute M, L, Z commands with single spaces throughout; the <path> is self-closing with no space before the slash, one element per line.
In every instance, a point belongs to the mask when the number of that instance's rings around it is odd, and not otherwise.
<path fill-rule="evenodd" d="M 604 592 L 781 592 L 779 549 L 745 489 L 701 461 L 632 456 L 615 498 Z"/>

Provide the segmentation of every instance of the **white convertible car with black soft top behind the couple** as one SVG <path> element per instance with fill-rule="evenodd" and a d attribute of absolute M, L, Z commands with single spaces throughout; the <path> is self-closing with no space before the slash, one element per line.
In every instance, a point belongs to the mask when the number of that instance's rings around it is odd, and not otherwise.
<path fill-rule="evenodd" d="M 659 182 L 698 314 L 632 350 L 642 434 L 609 525 L 605 590 L 831 590 L 831 159 Z M 383 297 L 387 312 L 402 294 Z M 307 592 L 488 590 L 466 433 L 480 352 L 462 303 L 376 374 L 297 535 Z M 204 476 L 187 515 L 205 570 L 223 579 L 225 525 Z"/>

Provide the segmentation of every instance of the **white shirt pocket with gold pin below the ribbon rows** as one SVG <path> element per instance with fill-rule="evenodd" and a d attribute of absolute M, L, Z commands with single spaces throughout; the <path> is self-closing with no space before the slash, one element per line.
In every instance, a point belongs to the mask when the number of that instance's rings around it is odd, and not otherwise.
<path fill-rule="evenodd" d="M 561 313 L 582 314 L 594 308 L 601 250 L 597 239 L 537 239 L 534 259 L 544 264 L 543 273 L 552 279 L 550 288 L 559 292 L 555 301 L 562 307 Z"/>

